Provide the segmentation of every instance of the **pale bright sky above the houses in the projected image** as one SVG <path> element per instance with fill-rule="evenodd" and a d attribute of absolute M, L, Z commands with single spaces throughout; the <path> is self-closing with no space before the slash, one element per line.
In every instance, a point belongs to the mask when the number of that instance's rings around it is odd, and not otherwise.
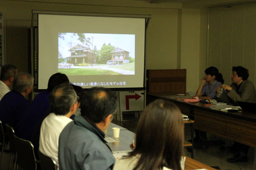
<path fill-rule="evenodd" d="M 59 33 L 60 34 L 60 33 Z M 86 41 L 81 42 L 78 34 L 83 34 Z M 58 38 L 58 51 L 62 58 L 70 57 L 70 49 L 77 44 L 83 44 L 90 49 L 100 50 L 102 45 L 109 43 L 129 52 L 129 57 L 135 58 L 135 35 L 132 34 L 92 34 L 92 33 L 65 33 Z"/>

